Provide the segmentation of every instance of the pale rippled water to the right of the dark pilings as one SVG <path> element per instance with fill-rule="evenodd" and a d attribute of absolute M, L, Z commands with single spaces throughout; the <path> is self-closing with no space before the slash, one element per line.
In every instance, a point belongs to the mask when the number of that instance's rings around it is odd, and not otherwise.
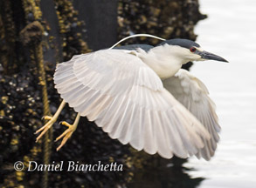
<path fill-rule="evenodd" d="M 197 24 L 197 42 L 230 61 L 199 62 L 192 74 L 217 104 L 221 141 L 210 162 L 190 158 L 185 167 L 199 188 L 256 187 L 256 1 L 200 0 L 208 18 Z"/>

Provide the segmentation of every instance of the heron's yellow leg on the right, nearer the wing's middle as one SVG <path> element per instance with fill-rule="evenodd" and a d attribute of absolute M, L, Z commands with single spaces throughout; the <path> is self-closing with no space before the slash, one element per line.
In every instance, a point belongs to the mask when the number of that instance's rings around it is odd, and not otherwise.
<path fill-rule="evenodd" d="M 77 117 L 75 118 L 73 124 L 68 124 L 65 121 L 60 122 L 59 124 L 64 124 L 68 127 L 68 129 L 66 131 L 64 131 L 59 138 L 56 138 L 55 142 L 57 142 L 60 138 L 63 138 L 61 141 L 61 144 L 59 145 L 59 147 L 57 148 L 57 151 L 59 151 L 59 149 L 66 144 L 66 141 L 68 138 L 71 138 L 73 132 L 76 130 L 78 124 L 80 122 L 80 113 L 78 113 Z"/>

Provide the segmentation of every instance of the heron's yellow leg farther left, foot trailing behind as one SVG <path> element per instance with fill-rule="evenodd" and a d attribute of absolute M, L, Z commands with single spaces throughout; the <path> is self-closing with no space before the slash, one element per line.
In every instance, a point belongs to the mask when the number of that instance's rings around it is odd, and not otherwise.
<path fill-rule="evenodd" d="M 49 120 L 43 127 L 41 127 L 40 129 L 38 129 L 38 131 L 35 132 L 35 134 L 38 134 L 38 132 L 41 132 L 36 140 L 36 142 L 38 142 L 38 140 L 40 138 L 43 137 L 43 135 L 45 134 L 46 131 L 48 131 L 51 127 L 52 124 L 54 124 L 57 120 L 57 118 L 59 117 L 60 112 L 62 111 L 62 109 L 64 108 L 66 102 L 63 100 L 61 102 L 61 104 L 59 105 L 58 110 L 55 112 L 55 114 L 53 115 L 53 117 L 50 116 L 45 116 L 43 117 L 44 119 Z"/>

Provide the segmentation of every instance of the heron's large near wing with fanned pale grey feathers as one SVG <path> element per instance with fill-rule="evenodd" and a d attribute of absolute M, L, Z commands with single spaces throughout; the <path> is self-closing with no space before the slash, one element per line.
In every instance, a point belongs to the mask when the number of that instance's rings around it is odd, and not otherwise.
<path fill-rule="evenodd" d="M 163 158 L 187 158 L 208 131 L 163 88 L 156 73 L 128 50 L 99 50 L 59 64 L 60 96 L 111 138 Z"/>

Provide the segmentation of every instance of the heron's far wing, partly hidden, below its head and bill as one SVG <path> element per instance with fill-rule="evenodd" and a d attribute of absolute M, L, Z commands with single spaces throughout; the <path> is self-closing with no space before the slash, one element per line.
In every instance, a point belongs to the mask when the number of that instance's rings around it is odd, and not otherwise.
<path fill-rule="evenodd" d="M 217 147 L 220 126 L 215 112 L 215 104 L 208 96 L 207 88 L 197 77 L 185 70 L 180 70 L 174 77 L 163 80 L 163 86 L 204 124 L 211 134 L 210 140 L 203 138 L 204 148 L 197 153 L 197 158 L 209 160 Z"/>

